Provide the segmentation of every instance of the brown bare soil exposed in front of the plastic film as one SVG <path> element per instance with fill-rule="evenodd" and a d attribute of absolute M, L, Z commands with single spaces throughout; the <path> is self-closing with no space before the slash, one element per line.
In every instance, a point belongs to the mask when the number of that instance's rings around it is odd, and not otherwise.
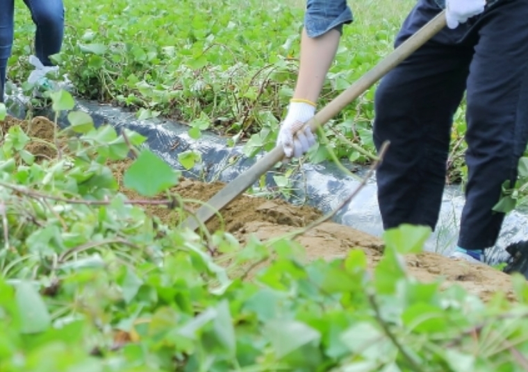
<path fill-rule="evenodd" d="M 6 128 L 14 124 L 12 119 L 4 123 L 0 122 L 0 129 L 5 133 Z M 31 122 L 29 135 L 50 140 L 49 128 L 53 128 L 53 124 L 47 119 L 35 118 Z M 52 138 L 53 130 L 51 130 Z M 40 146 L 40 144 L 35 143 L 35 146 Z M 44 147 L 36 147 L 34 151 L 53 155 L 53 153 L 47 153 L 47 148 Z M 122 185 L 120 181 L 123 172 L 129 164 L 131 164 L 130 161 L 110 164 L 120 185 Z M 207 201 L 224 186 L 222 183 L 208 184 L 197 180 L 182 179 L 172 191 L 184 199 Z M 139 198 L 135 192 L 123 187 L 122 192 L 131 199 Z M 191 208 L 197 208 L 197 204 L 188 205 Z M 177 224 L 180 221 L 177 212 L 165 207 L 149 206 L 147 211 L 158 216 L 165 223 Z M 321 215 L 321 212 L 314 208 L 297 207 L 282 200 L 267 200 L 242 195 L 222 211 L 224 221 L 214 218 L 207 224 L 207 227 L 210 230 L 222 228 L 229 231 L 244 243 L 251 235 L 266 240 L 297 231 Z M 383 255 L 383 242 L 378 237 L 333 222 L 322 223 L 297 237 L 296 240 L 306 249 L 307 260 L 320 257 L 331 260 L 347 255 L 351 249 L 361 249 L 368 257 L 368 264 L 372 269 Z M 406 263 L 409 273 L 420 281 L 431 282 L 443 278 L 443 287 L 461 285 L 484 301 L 488 301 L 497 292 L 502 292 L 513 300 L 511 277 L 486 265 L 473 265 L 451 260 L 435 253 L 409 255 L 406 257 Z"/>

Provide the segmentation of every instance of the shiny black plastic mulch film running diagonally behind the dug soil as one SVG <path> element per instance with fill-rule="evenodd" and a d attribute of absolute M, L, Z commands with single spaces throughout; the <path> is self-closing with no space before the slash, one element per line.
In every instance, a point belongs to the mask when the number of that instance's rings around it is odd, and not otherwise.
<path fill-rule="evenodd" d="M 19 102 L 19 107 L 14 101 L 10 102 L 8 108 L 11 114 L 24 117 L 22 100 L 15 100 Z M 243 155 L 242 145 L 229 147 L 226 140 L 212 133 L 202 133 L 199 140 L 193 140 L 187 134 L 188 126 L 173 121 L 158 118 L 138 120 L 135 112 L 82 99 L 77 99 L 74 110 L 88 112 L 96 126 L 110 124 L 118 132 L 122 128 L 128 128 L 140 133 L 147 138 L 145 145 L 151 151 L 174 169 L 181 170 L 183 176 L 188 178 L 229 183 L 261 157 L 259 154 L 255 158 L 247 158 Z M 51 112 L 40 112 L 40 115 L 53 117 Z M 67 112 L 60 116 L 60 126 L 68 125 L 66 116 Z M 201 162 L 189 171 L 185 170 L 178 160 L 178 154 L 183 151 L 199 152 Z M 365 174 L 365 171 L 366 169 L 361 169 L 358 174 Z M 275 185 L 274 175 L 279 174 L 277 171 L 270 171 L 266 175 L 267 185 Z M 290 180 L 290 202 L 306 203 L 324 213 L 337 208 L 359 185 L 356 178 L 343 174 L 343 171 L 331 162 L 304 164 L 301 171 L 295 172 Z M 335 214 L 333 221 L 380 237 L 383 228 L 376 192 L 376 185 L 371 179 L 352 201 Z M 463 202 L 460 187 L 445 188 L 440 219 L 436 231 L 426 243 L 427 251 L 447 255 L 454 249 Z M 522 242 L 524 239 L 528 239 L 528 213 L 515 210 L 506 216 L 499 242 L 495 248 L 488 250 L 486 262 L 495 265 L 508 260 L 510 264 L 506 267 L 506 272 L 518 271 L 528 278 L 528 243 Z M 508 246 L 509 248 L 505 248 Z"/>

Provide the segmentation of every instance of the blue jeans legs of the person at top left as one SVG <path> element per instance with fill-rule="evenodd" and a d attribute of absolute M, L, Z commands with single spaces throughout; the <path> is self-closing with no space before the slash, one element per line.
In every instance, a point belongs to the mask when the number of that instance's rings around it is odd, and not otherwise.
<path fill-rule="evenodd" d="M 37 30 L 35 54 L 44 67 L 51 67 L 50 56 L 60 51 L 64 35 L 62 0 L 24 0 Z M 15 0 L 0 0 L 0 102 L 4 99 L 8 59 L 13 47 Z"/>

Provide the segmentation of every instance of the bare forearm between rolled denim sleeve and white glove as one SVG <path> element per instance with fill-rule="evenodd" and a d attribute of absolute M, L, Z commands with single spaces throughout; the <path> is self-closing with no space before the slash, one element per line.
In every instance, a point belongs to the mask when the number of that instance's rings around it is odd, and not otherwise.
<path fill-rule="evenodd" d="M 317 102 L 330 65 L 336 58 L 340 37 L 339 31 L 331 30 L 320 37 L 311 38 L 303 29 L 301 62 L 294 99 Z"/>

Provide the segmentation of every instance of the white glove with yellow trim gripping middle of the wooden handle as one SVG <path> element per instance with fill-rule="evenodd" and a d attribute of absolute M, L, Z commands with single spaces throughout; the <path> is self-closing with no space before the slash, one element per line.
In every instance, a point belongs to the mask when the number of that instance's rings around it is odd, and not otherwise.
<path fill-rule="evenodd" d="M 314 115 L 313 105 L 304 102 L 290 102 L 288 114 L 281 124 L 279 137 L 277 137 L 277 146 L 283 146 L 286 158 L 291 158 L 292 155 L 294 158 L 300 158 L 315 144 L 315 137 L 310 126 L 297 132 Z"/>

